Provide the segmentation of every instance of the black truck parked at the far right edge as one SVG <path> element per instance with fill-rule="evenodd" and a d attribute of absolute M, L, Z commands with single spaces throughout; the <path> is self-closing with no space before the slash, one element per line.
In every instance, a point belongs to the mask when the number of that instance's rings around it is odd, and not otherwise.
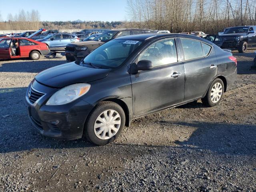
<path fill-rule="evenodd" d="M 244 53 L 248 46 L 256 44 L 256 26 L 238 26 L 226 28 L 221 48 L 231 48 Z"/>

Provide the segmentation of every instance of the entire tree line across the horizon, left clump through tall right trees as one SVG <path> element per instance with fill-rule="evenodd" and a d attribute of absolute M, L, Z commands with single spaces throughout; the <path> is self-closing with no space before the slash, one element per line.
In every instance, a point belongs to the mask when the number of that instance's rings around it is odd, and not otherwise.
<path fill-rule="evenodd" d="M 256 0 L 127 0 L 128 21 L 40 21 L 38 10 L 20 10 L 0 30 L 148 28 L 216 34 L 226 27 L 256 25 Z"/>

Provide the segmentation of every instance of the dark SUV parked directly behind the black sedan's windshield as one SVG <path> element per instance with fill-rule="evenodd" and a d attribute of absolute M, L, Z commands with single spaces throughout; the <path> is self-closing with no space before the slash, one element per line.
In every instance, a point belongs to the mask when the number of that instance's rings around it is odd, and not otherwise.
<path fill-rule="evenodd" d="M 115 29 L 106 31 L 100 34 L 98 37 L 94 38 L 92 41 L 82 41 L 68 44 L 65 51 L 66 60 L 68 62 L 80 61 L 91 51 L 114 38 L 146 33 L 156 32 L 148 29 Z"/>

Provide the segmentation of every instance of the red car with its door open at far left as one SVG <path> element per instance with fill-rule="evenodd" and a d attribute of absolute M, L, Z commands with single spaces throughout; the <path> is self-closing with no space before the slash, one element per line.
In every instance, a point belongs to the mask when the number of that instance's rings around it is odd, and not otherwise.
<path fill-rule="evenodd" d="M 38 60 L 41 55 L 50 53 L 45 43 L 28 38 L 0 38 L 0 59 L 30 58 Z"/>

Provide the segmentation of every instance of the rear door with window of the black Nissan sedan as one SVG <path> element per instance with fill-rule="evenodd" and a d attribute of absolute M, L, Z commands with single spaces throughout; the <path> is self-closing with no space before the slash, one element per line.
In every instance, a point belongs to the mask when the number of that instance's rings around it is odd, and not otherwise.
<path fill-rule="evenodd" d="M 184 100 L 188 101 L 204 95 L 217 74 L 218 63 L 210 44 L 188 38 L 180 38 L 180 42 L 184 54 Z"/>

